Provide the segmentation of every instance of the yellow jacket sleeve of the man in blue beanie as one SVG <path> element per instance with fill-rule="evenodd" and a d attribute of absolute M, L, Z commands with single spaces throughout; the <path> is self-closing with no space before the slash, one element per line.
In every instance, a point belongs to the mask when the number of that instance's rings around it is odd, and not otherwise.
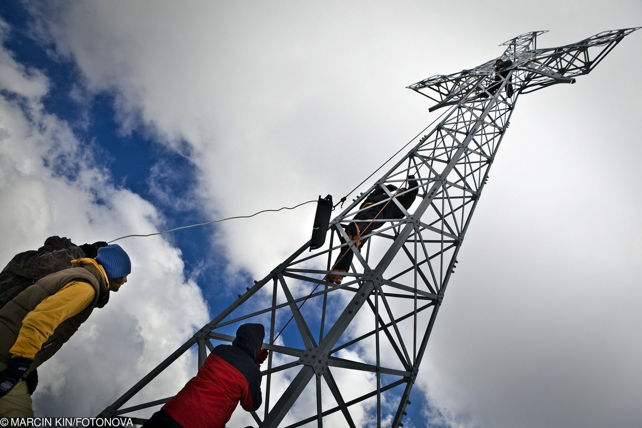
<path fill-rule="evenodd" d="M 56 327 L 65 319 L 79 314 L 95 295 L 96 290 L 91 284 L 71 281 L 24 317 L 18 338 L 9 352 L 13 357 L 33 359 Z"/>

